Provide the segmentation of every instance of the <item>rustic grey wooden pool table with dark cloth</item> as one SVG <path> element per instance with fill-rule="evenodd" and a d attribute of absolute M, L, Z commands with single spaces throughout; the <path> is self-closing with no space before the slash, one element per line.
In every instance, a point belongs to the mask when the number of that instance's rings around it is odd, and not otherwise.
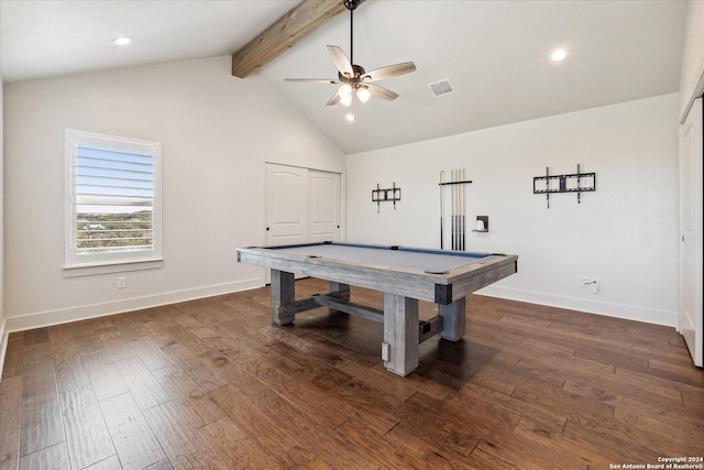
<path fill-rule="evenodd" d="M 465 330 L 468 294 L 518 270 L 515 254 L 320 242 L 238 248 L 238 262 L 271 269 L 272 321 L 294 323 L 321 306 L 384 324 L 384 367 L 406 376 L 418 367 L 418 345 L 440 335 L 458 341 Z M 295 274 L 327 280 L 328 294 L 296 300 Z M 384 309 L 350 302 L 350 285 L 384 293 Z M 438 304 L 438 316 L 418 319 L 418 300 Z"/>

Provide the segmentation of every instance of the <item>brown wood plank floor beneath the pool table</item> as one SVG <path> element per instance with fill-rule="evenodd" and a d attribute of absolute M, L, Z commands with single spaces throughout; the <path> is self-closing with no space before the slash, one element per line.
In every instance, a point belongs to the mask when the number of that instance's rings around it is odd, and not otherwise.
<path fill-rule="evenodd" d="M 301 298 L 327 283 L 296 288 Z M 376 292 L 352 299 L 382 308 Z M 421 318 L 435 308 L 421 303 Z M 268 287 L 15 332 L 0 469 L 616 469 L 704 457 L 704 371 L 672 328 L 476 295 L 466 319 L 462 340 L 424 342 L 405 379 L 383 367 L 382 324 L 319 308 L 276 327 Z"/>

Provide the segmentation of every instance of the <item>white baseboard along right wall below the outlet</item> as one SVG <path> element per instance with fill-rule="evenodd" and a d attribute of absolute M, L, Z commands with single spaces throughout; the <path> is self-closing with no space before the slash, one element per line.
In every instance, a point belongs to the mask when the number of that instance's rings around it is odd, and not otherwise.
<path fill-rule="evenodd" d="M 477 291 L 476 294 L 506 298 L 509 300 L 527 302 L 529 304 L 546 305 L 549 307 L 566 308 L 569 310 L 585 311 L 587 314 L 604 315 L 607 317 L 623 318 L 627 320 L 644 321 L 647 324 L 662 325 L 672 328 L 676 328 L 678 325 L 676 311 L 656 310 L 635 305 L 565 297 L 493 285 Z"/>

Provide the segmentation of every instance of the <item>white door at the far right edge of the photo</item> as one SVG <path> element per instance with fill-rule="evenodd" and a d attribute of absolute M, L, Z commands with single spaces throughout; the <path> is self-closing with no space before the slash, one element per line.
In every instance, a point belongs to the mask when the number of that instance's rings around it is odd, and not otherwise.
<path fill-rule="evenodd" d="M 702 98 L 692 106 L 680 135 L 680 315 L 678 328 L 694 364 L 704 367 L 702 313 Z"/>

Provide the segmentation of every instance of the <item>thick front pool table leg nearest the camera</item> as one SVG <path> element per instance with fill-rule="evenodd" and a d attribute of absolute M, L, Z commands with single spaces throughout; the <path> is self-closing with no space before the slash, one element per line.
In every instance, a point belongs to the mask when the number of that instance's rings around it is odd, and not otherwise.
<path fill-rule="evenodd" d="M 384 294 L 384 367 L 406 376 L 418 367 L 418 300 Z"/>

